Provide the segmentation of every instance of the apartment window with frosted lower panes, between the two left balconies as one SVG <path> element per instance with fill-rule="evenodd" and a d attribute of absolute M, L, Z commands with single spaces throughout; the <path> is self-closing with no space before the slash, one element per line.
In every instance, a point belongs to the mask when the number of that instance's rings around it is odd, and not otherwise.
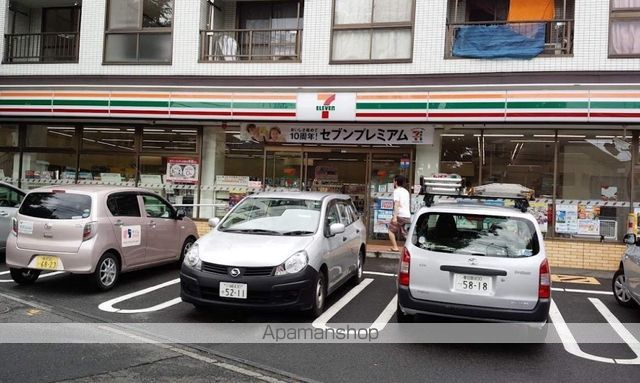
<path fill-rule="evenodd" d="M 173 0 L 109 0 L 104 62 L 169 64 Z"/>

